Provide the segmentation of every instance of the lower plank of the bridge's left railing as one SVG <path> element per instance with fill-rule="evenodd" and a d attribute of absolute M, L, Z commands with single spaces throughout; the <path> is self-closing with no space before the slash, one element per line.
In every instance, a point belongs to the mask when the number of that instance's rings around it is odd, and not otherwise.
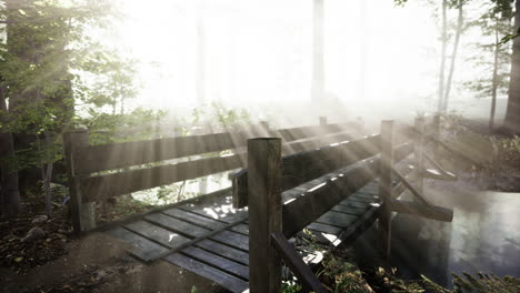
<path fill-rule="evenodd" d="M 82 200 L 83 202 L 107 200 L 121 194 L 224 172 L 243 166 L 244 160 L 244 154 L 232 154 L 90 176 L 81 180 L 81 189 L 86 194 Z"/>

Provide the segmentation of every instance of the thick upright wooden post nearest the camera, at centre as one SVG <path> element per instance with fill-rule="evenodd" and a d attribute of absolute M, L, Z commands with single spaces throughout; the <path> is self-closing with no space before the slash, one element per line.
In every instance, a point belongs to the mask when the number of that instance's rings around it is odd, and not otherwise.
<path fill-rule="evenodd" d="M 248 140 L 249 286 L 280 292 L 281 261 L 271 233 L 282 231 L 281 139 Z"/>

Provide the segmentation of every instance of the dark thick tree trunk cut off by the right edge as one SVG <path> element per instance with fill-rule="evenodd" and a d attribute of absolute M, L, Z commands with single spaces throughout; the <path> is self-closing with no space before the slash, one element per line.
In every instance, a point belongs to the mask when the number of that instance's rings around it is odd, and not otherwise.
<path fill-rule="evenodd" d="M 514 32 L 520 27 L 520 0 L 514 3 Z M 520 37 L 512 41 L 509 99 L 503 127 L 511 133 L 520 133 Z"/>

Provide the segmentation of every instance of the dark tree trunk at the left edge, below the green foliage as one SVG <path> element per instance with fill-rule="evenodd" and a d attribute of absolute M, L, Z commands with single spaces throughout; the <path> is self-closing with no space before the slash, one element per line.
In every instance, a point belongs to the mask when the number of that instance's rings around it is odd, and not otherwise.
<path fill-rule="evenodd" d="M 8 112 L 4 89 L 0 87 L 0 111 Z M 3 121 L 0 117 L 0 121 Z M 9 168 L 7 159 L 14 155 L 12 133 L 0 128 L 0 198 L 2 204 L 2 216 L 10 216 L 20 213 L 20 192 L 18 172 Z"/>

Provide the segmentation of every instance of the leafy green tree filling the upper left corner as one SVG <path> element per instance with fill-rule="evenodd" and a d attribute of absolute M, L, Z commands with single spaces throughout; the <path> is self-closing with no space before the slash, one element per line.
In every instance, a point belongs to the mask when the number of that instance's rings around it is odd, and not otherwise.
<path fill-rule="evenodd" d="M 131 95 L 131 74 L 123 62 L 107 63 L 87 27 L 108 23 L 107 0 L 4 0 L 0 21 L 7 41 L 0 48 L 2 196 L 16 185 L 14 172 L 39 170 L 46 188 L 46 212 L 50 214 L 50 181 L 53 163 L 61 159 L 61 133 L 76 123 L 77 102 L 101 107 L 116 104 L 121 111 Z M 104 53 L 104 55 L 110 55 Z M 87 89 L 86 72 L 108 75 L 117 84 L 110 98 L 100 102 L 99 89 Z M 107 102 L 109 101 L 109 102 Z M 10 139 L 14 133 L 14 140 Z M 14 142 L 14 143 L 12 143 Z M 10 145 L 14 144 L 14 149 Z M 12 151 L 11 151 L 12 150 Z M 7 165 L 10 165 L 9 171 Z M 11 175 L 12 174 L 12 175 Z M 36 178 L 30 178 L 36 183 Z M 7 196 L 7 195 L 6 195 Z M 9 198 L 2 198 L 12 202 Z"/>

